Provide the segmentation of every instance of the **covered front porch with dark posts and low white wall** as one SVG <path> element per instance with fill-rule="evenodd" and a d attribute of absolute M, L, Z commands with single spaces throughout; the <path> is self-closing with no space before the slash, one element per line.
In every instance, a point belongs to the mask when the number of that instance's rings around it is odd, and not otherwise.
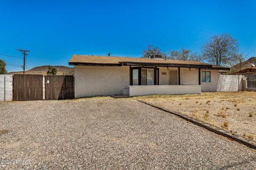
<path fill-rule="evenodd" d="M 201 94 L 201 77 L 201 68 L 130 66 L 130 86 L 123 90 L 123 94 Z"/>

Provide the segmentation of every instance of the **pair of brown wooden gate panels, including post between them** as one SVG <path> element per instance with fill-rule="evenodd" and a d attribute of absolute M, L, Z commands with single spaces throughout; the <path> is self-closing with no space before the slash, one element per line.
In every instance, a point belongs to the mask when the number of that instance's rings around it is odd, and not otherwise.
<path fill-rule="evenodd" d="M 13 75 L 13 100 L 58 100 L 75 97 L 73 75 Z"/>

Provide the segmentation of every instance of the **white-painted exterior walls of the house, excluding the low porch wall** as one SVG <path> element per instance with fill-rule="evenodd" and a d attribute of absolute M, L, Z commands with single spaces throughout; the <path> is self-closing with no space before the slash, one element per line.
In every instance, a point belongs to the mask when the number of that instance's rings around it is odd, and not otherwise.
<path fill-rule="evenodd" d="M 171 69 L 178 70 L 177 67 L 159 67 L 159 85 L 169 85 Z M 217 91 L 219 71 L 210 71 L 211 82 L 202 82 L 202 91 Z M 180 83 L 198 85 L 198 69 L 180 68 Z M 121 95 L 123 89 L 129 89 L 129 85 L 129 66 L 75 66 L 75 98 Z"/>

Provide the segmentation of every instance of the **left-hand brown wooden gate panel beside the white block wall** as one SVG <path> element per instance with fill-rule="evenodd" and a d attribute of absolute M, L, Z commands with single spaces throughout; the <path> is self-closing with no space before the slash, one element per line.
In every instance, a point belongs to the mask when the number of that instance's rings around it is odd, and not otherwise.
<path fill-rule="evenodd" d="M 13 75 L 13 100 L 43 100 L 43 75 Z"/>

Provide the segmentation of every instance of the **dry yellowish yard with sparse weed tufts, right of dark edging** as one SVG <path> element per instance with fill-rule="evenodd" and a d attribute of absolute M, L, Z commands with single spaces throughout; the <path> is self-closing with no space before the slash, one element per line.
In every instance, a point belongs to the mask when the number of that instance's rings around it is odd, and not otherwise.
<path fill-rule="evenodd" d="M 201 95 L 135 98 L 211 123 L 255 141 L 256 92 L 205 92 Z"/>

